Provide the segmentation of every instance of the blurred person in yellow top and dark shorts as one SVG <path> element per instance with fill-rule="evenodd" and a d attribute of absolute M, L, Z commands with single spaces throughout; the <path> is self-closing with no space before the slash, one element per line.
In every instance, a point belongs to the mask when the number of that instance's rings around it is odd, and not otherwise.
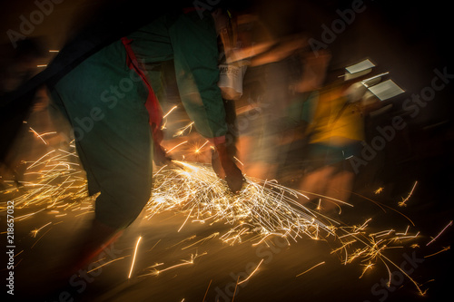
<path fill-rule="evenodd" d="M 299 186 L 319 202 L 318 209 L 335 212 L 350 199 L 355 173 L 348 159 L 359 155 L 365 140 L 364 116 L 378 101 L 360 78 L 344 80 L 340 71 L 331 72 L 319 90 L 306 130 L 307 166 Z"/>

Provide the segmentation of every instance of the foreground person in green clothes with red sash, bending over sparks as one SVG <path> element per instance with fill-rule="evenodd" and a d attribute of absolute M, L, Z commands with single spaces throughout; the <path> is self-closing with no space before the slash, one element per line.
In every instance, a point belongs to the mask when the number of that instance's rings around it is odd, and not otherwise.
<path fill-rule="evenodd" d="M 202 15 L 201 15 L 202 13 Z M 226 150 L 225 111 L 217 85 L 220 9 L 164 14 L 106 45 L 49 87 L 74 128 L 80 159 L 95 200 L 94 222 L 76 266 L 83 266 L 138 217 L 152 190 L 153 143 L 160 148 L 158 83 L 142 64 L 173 60 L 183 106 L 198 132 L 212 141 L 233 192 L 242 171 Z"/>

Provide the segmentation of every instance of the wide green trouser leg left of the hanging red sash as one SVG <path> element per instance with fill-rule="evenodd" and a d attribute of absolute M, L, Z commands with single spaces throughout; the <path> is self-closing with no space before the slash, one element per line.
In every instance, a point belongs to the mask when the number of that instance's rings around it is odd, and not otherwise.
<path fill-rule="evenodd" d="M 118 55 L 122 54 L 122 55 Z M 114 228 L 135 219 L 150 198 L 153 140 L 148 92 L 126 65 L 121 42 L 79 64 L 51 90 L 73 125 L 95 217 Z"/>

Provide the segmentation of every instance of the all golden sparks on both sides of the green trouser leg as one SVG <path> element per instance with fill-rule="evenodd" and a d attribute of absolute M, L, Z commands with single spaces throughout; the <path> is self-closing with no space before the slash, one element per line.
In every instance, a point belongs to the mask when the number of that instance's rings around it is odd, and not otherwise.
<path fill-rule="evenodd" d="M 183 132 L 190 127 L 191 124 L 185 127 Z M 186 142 L 183 141 L 182 144 Z M 178 146 L 176 145 L 173 149 Z M 197 150 L 200 151 L 204 146 L 205 144 Z M 60 218 L 69 211 L 77 210 L 80 212 L 77 215 L 93 212 L 93 201 L 96 196 L 88 196 L 84 172 L 80 169 L 75 151 L 54 149 L 37 161 L 27 164 L 25 172 L 27 180 L 20 181 L 20 187 L 12 186 L 1 192 L 8 200 L 15 201 L 17 209 L 33 209 L 31 213 L 16 217 L 16 221 L 32 217 L 43 211 L 54 215 L 54 218 Z M 291 190 L 274 180 L 258 180 L 251 177 L 246 177 L 246 179 L 247 182 L 243 189 L 238 194 L 233 194 L 228 190 L 225 180 L 220 179 L 211 166 L 195 162 L 173 161 L 173 164 L 154 173 L 153 194 L 143 209 L 144 218 L 151 219 L 163 211 L 175 211 L 185 216 L 180 229 L 183 229 L 187 223 L 193 222 L 207 225 L 221 223 L 228 226 L 223 233 L 214 233 L 186 248 L 202 244 L 205 240 L 215 237 L 230 245 L 252 241 L 253 246 L 274 236 L 286 239 L 289 244 L 291 241 L 297 241 L 303 237 L 318 240 L 331 239 L 338 245 L 338 248 L 332 249 L 332 253 L 339 254 L 343 264 L 350 264 L 353 261 L 360 262 L 363 267 L 360 278 L 379 261 L 389 271 L 390 266 L 399 269 L 390 258 L 384 255 L 384 252 L 390 248 L 396 248 L 396 245 L 406 240 L 415 239 L 419 235 L 419 233 L 409 234 L 410 227 L 400 233 L 390 229 L 368 234 L 366 229 L 370 219 L 360 226 L 342 226 L 340 221 L 321 214 L 317 209 L 310 209 L 309 206 L 301 204 L 300 200 L 309 200 L 304 193 L 310 192 Z M 416 182 L 408 198 L 415 186 Z M 332 201 L 351 206 L 342 200 Z M 445 229 L 451 224 L 452 221 Z M 36 237 L 41 229 L 49 225 L 52 225 L 52 221 L 39 229 L 32 230 L 32 236 Z M 439 235 L 427 245 L 437 239 Z M 139 241 L 140 239 L 136 243 L 134 258 Z M 205 253 L 192 255 L 189 260 L 182 260 L 180 264 L 161 270 L 156 267 L 163 264 L 157 264 L 149 267 L 150 272 L 142 276 L 156 276 L 172 268 L 193 264 L 195 258 L 203 255 Z M 130 276 L 133 271 L 134 258 Z M 422 294 L 419 285 L 410 276 L 404 275 L 415 284 L 419 293 Z"/>

